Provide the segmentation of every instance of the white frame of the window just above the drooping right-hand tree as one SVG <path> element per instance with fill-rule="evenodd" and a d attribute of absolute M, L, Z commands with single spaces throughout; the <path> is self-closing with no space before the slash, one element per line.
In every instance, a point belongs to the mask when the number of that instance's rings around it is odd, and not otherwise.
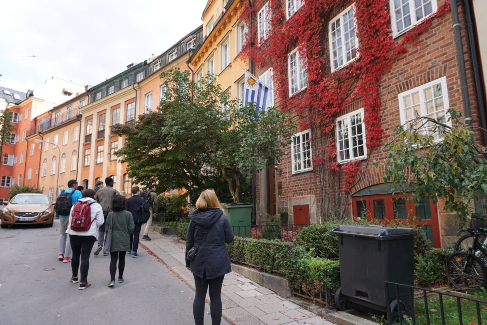
<path fill-rule="evenodd" d="M 404 125 L 405 129 L 409 128 L 409 120 L 406 119 L 406 112 L 405 112 L 405 106 L 404 106 L 404 98 L 406 96 L 412 95 L 416 92 L 419 93 L 419 116 L 427 116 L 427 107 L 426 107 L 426 98 L 424 91 L 434 85 L 441 84 L 441 91 L 442 91 L 442 97 L 443 97 L 443 110 L 444 111 L 444 116 L 445 120 L 442 121 L 442 123 L 448 125 L 451 127 L 451 120 L 450 119 L 450 114 L 448 114 L 448 109 L 450 108 L 450 100 L 448 98 L 448 85 L 447 85 L 447 77 L 443 76 L 441 78 L 432 80 L 430 82 L 427 82 L 421 86 L 412 88 L 410 90 L 407 90 L 403 93 L 400 93 L 397 98 L 399 101 L 399 116 L 401 118 L 401 124 Z M 433 98 L 433 103 L 434 103 L 434 97 Z M 432 114 L 436 115 L 437 112 L 441 111 L 433 111 Z M 431 115 L 431 114 L 430 114 Z M 415 118 L 415 116 L 412 113 L 412 118 Z M 425 129 L 426 131 L 426 129 Z M 441 142 L 443 138 L 436 138 L 435 142 Z"/>

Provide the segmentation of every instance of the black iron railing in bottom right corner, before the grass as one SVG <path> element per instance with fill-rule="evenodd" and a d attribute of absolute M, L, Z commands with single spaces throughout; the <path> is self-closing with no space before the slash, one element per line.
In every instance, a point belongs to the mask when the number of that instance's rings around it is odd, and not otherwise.
<path fill-rule="evenodd" d="M 385 289 L 387 301 L 391 301 L 389 324 L 487 324 L 487 301 L 475 292 L 453 294 L 388 281 Z M 485 296 L 485 291 L 480 292 Z"/>

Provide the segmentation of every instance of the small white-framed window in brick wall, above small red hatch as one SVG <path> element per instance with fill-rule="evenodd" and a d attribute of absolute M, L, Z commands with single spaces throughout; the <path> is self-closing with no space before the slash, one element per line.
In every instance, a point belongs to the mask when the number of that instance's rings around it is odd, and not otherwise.
<path fill-rule="evenodd" d="M 311 131 L 294 134 L 291 139 L 292 173 L 307 172 L 313 169 L 311 161 Z"/>

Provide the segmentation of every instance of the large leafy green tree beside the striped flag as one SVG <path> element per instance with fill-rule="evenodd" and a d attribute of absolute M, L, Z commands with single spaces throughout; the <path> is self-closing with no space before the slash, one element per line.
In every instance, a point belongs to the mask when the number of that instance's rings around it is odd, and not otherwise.
<path fill-rule="evenodd" d="M 161 73 L 167 87 L 157 112 L 140 116 L 113 132 L 127 138 L 117 152 L 128 172 L 143 184 L 158 183 L 162 191 L 201 191 L 224 180 L 233 202 L 240 201 L 242 180 L 253 170 L 278 160 L 296 127 L 277 109 L 265 114 L 242 106 L 208 75 L 198 82 L 189 72 Z"/>

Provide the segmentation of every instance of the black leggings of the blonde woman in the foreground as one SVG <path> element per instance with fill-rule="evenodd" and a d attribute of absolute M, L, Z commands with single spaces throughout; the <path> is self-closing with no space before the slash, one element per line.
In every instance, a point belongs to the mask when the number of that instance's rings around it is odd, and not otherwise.
<path fill-rule="evenodd" d="M 203 280 L 194 274 L 193 276 L 194 287 L 196 288 L 196 295 L 193 301 L 194 324 L 203 325 L 203 317 L 205 316 L 206 291 L 208 290 L 209 286 L 211 324 L 220 325 L 222 321 L 222 284 L 225 275 L 210 280 Z"/>

